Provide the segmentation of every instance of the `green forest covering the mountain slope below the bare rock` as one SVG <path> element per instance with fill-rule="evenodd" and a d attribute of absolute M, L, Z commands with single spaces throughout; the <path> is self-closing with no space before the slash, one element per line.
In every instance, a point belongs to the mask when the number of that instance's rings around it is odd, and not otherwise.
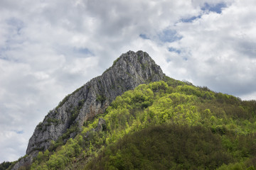
<path fill-rule="evenodd" d="M 256 101 L 166 77 L 117 96 L 21 169 L 256 169 L 255 115 Z"/>

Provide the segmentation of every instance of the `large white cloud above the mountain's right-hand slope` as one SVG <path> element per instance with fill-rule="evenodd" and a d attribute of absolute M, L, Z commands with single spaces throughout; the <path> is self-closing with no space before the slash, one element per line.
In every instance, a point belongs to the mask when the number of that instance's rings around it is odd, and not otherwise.
<path fill-rule="evenodd" d="M 192 23 L 177 23 L 183 38 L 171 45 L 188 57 L 187 79 L 215 91 L 242 96 L 256 91 L 250 86 L 256 81 L 252 62 L 256 13 L 253 4 L 239 2 L 223 8 L 222 13 L 205 13 Z"/>

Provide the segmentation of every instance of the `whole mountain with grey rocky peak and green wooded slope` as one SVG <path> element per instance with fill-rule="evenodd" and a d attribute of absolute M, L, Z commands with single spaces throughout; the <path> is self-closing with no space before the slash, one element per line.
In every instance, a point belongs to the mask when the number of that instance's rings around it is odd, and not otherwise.
<path fill-rule="evenodd" d="M 166 77 L 127 52 L 39 123 L 4 169 L 256 169 L 256 101 Z"/>

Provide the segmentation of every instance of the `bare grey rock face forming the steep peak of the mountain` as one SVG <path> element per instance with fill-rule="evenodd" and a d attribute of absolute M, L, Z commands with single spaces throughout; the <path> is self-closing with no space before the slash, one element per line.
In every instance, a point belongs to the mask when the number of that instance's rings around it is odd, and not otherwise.
<path fill-rule="evenodd" d="M 26 150 L 29 162 L 32 160 L 31 154 L 36 155 L 35 153 L 48 149 L 50 141 L 56 141 L 64 134 L 68 138 L 74 137 L 75 132 L 68 134 L 70 129 L 81 128 L 86 120 L 104 113 L 107 106 L 125 91 L 134 89 L 139 84 L 164 79 L 161 68 L 146 52 L 129 51 L 122 54 L 100 77 L 95 77 L 66 96 L 46 115 L 43 123 L 36 126 Z M 102 128 L 102 125 L 98 127 Z M 14 167 L 18 169 L 17 166 Z"/>

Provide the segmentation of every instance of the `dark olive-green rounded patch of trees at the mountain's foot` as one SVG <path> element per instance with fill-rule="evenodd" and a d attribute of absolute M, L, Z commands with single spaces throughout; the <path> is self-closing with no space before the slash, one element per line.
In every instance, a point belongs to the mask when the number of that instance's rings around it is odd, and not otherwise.
<path fill-rule="evenodd" d="M 229 162 L 232 156 L 210 130 L 158 125 L 124 136 L 85 169 L 215 169 Z"/>

